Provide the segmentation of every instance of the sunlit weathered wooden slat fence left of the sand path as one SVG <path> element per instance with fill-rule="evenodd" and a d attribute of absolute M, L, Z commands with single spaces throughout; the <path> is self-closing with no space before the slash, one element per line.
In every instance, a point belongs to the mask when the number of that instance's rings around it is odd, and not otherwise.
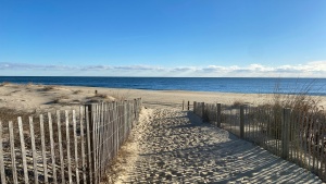
<path fill-rule="evenodd" d="M 100 183 L 141 99 L 0 121 L 0 183 Z"/>

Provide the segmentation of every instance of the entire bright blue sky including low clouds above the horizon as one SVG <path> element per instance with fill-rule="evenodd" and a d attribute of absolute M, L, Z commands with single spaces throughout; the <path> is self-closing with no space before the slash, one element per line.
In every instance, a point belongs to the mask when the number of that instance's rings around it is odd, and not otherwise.
<path fill-rule="evenodd" d="M 0 76 L 326 77 L 326 0 L 0 0 Z"/>

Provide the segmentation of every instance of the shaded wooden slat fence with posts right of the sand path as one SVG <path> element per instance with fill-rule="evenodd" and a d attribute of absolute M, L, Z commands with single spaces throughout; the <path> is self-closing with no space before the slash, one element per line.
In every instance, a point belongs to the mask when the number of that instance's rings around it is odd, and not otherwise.
<path fill-rule="evenodd" d="M 326 182 L 325 111 L 193 102 L 204 121 L 289 160 Z"/>

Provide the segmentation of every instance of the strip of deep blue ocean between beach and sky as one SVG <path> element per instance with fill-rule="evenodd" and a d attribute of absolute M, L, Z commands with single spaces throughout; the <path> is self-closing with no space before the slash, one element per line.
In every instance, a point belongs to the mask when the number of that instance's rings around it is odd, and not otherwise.
<path fill-rule="evenodd" d="M 309 95 L 326 96 L 326 78 L 0 76 L 0 83 L 2 82 L 242 94 L 296 94 L 309 91 Z"/>

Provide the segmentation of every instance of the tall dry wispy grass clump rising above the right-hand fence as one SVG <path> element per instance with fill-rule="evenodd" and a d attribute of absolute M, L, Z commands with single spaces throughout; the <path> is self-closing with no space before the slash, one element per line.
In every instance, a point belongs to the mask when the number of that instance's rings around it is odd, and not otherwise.
<path fill-rule="evenodd" d="M 315 120 L 322 120 L 326 115 L 324 107 L 319 106 L 321 96 L 310 95 L 313 85 L 314 81 L 301 87 L 294 86 L 292 91 L 285 94 L 279 84 L 276 84 L 272 100 L 258 107 L 260 111 L 255 116 L 266 116 L 273 120 L 268 124 L 273 137 L 280 138 L 284 109 L 290 109 L 291 121 L 299 123 L 297 126 L 302 130 L 313 127 Z M 321 131 L 316 130 L 312 137 L 318 137 L 319 133 Z M 311 142 L 308 137 L 301 138 Z M 311 144 L 313 145 L 313 143 Z"/>

